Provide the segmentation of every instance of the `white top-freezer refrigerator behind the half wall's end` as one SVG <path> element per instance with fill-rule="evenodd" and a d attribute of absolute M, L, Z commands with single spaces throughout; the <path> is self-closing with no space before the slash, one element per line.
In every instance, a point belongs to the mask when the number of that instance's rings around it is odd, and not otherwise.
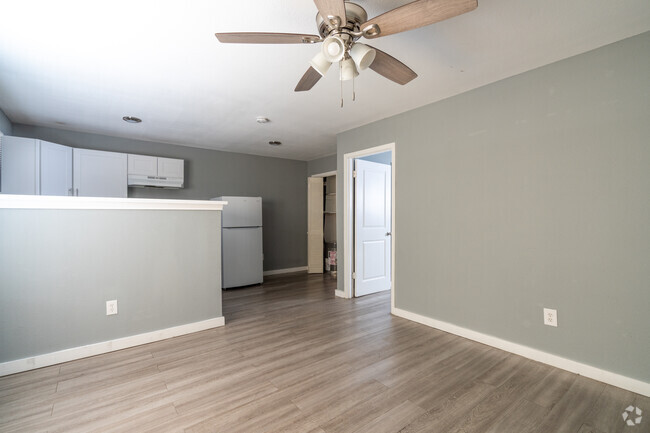
<path fill-rule="evenodd" d="M 221 287 L 261 283 L 262 198 L 224 196 L 212 200 L 228 202 L 221 213 Z"/>

